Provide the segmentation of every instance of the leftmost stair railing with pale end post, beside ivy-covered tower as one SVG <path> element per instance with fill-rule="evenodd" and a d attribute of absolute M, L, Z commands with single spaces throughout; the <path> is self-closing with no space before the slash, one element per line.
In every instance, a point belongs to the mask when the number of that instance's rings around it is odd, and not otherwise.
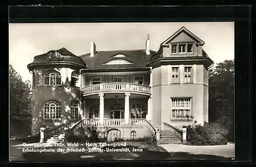
<path fill-rule="evenodd" d="M 40 143 L 44 143 L 48 137 L 69 127 L 69 124 L 70 123 L 64 123 L 64 124 L 58 125 L 51 129 L 46 129 L 45 127 L 41 127 L 40 128 Z"/>

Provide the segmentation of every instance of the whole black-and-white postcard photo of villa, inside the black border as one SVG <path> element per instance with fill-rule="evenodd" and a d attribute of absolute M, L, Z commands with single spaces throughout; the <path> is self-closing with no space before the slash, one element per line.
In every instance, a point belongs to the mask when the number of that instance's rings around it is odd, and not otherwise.
<path fill-rule="evenodd" d="M 234 22 L 9 23 L 10 161 L 235 159 Z"/>

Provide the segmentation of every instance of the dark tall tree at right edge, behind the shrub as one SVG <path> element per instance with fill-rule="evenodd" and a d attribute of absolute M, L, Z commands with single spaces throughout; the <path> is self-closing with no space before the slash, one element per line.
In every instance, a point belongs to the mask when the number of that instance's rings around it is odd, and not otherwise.
<path fill-rule="evenodd" d="M 225 60 L 209 70 L 209 122 L 218 122 L 234 131 L 234 60 Z"/>

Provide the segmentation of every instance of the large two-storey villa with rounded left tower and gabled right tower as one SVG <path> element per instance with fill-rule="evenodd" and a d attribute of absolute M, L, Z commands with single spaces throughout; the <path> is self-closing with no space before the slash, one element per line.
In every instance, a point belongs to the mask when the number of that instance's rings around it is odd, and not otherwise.
<path fill-rule="evenodd" d="M 34 57 L 32 133 L 80 120 L 101 136 L 113 127 L 123 138 L 150 133 L 141 120 L 177 128 L 208 122 L 208 69 L 204 42 L 182 27 L 150 49 L 97 51 L 80 56 L 66 48 Z M 137 125 L 137 124 L 136 124 Z M 143 124 L 144 125 L 144 124 Z M 113 132 L 113 131 L 112 131 Z"/>

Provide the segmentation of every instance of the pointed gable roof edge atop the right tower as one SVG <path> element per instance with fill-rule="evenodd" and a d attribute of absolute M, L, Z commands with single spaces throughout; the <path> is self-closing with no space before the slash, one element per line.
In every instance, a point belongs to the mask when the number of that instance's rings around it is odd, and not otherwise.
<path fill-rule="evenodd" d="M 194 39 L 195 41 L 197 41 L 197 43 L 199 45 L 204 45 L 204 41 L 202 41 L 200 38 L 198 38 L 196 35 L 194 35 L 193 33 L 191 33 L 189 30 L 187 30 L 184 26 L 181 27 L 180 30 L 178 30 L 176 33 L 174 33 L 172 36 L 170 36 L 168 39 L 166 39 L 163 43 L 161 43 L 161 45 L 166 45 L 168 44 L 170 41 L 172 41 L 173 39 L 175 39 L 178 35 L 180 35 L 181 33 L 185 33 L 187 36 L 189 36 L 190 38 Z"/>

